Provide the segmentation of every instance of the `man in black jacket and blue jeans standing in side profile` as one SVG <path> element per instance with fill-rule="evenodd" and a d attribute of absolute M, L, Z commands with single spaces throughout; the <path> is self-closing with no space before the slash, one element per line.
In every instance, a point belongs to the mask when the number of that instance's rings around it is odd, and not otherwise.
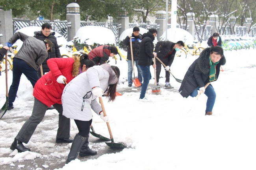
<path fill-rule="evenodd" d="M 147 33 L 142 35 L 142 41 L 139 46 L 138 64 L 142 70 L 143 75 L 143 84 L 141 87 L 141 95 L 139 96 L 139 99 L 141 99 L 142 101 L 147 101 L 147 98 L 145 98 L 145 94 L 148 88 L 149 80 L 151 79 L 150 66 L 153 65 L 153 68 L 156 67 L 156 65 L 152 61 L 152 59 L 156 56 L 156 53 L 153 53 L 153 41 L 155 40 L 156 35 L 157 30 L 154 28 L 150 28 Z"/>

